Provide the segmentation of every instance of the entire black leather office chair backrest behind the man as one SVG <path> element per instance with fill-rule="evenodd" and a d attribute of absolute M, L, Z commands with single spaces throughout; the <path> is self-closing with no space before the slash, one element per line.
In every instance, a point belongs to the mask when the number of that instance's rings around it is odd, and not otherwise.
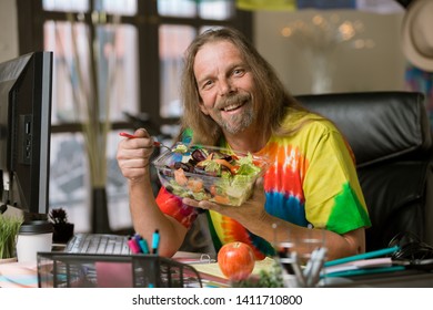
<path fill-rule="evenodd" d="M 367 92 L 299 95 L 346 137 L 372 219 L 367 250 L 401 231 L 433 242 L 432 133 L 424 95 Z M 432 193 L 432 194 L 431 194 Z"/>

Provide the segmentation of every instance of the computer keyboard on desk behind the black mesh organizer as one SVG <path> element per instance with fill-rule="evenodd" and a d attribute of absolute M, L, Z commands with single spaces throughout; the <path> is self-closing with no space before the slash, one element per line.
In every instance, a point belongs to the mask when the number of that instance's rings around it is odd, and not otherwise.
<path fill-rule="evenodd" d="M 68 241 L 66 252 L 130 255 L 128 236 L 111 234 L 78 232 Z"/>

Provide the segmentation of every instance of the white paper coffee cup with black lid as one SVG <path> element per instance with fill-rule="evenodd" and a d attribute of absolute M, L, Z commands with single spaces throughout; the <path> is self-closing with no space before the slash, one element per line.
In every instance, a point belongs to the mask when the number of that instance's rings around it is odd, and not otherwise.
<path fill-rule="evenodd" d="M 18 262 L 37 262 L 38 252 L 51 251 L 52 232 L 52 224 L 47 220 L 23 223 L 17 239 Z"/>

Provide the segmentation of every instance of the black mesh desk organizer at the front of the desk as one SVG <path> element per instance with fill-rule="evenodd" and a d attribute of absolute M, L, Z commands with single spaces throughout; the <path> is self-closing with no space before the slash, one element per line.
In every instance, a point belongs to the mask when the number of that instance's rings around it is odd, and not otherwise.
<path fill-rule="evenodd" d="M 40 288 L 202 287 L 191 266 L 157 255 L 38 254 Z"/>

